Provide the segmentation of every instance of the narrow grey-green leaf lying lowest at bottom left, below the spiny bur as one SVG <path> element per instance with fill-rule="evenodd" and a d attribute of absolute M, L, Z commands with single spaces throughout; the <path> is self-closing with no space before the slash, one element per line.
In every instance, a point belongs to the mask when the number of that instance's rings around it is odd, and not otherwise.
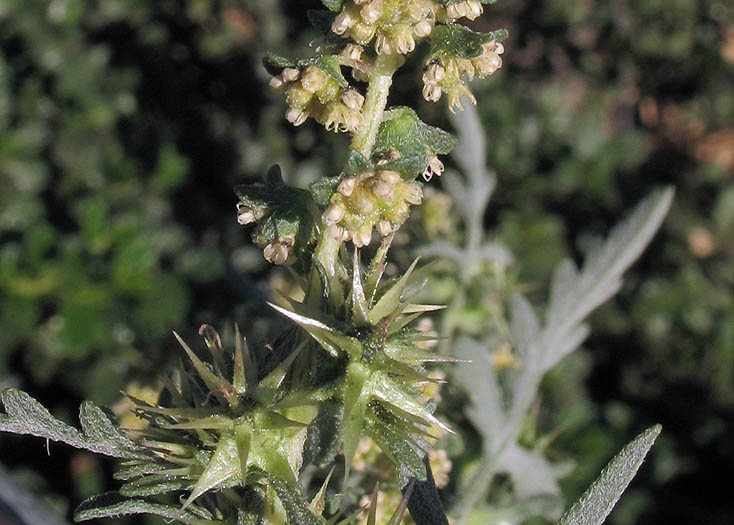
<path fill-rule="evenodd" d="M 221 521 L 215 521 L 201 507 L 192 506 L 189 510 L 184 510 L 180 506 L 162 505 L 144 499 L 127 499 L 116 492 L 93 496 L 82 502 L 74 511 L 74 521 L 116 518 L 130 514 L 153 514 L 189 525 L 224 525 Z"/>

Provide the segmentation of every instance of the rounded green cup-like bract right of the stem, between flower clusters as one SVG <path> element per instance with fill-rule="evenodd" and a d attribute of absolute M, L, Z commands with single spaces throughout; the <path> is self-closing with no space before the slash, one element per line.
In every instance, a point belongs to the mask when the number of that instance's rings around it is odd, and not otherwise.
<path fill-rule="evenodd" d="M 385 113 L 373 159 L 387 159 L 380 164 L 381 169 L 397 171 L 412 180 L 426 170 L 429 155 L 446 155 L 455 145 L 453 135 L 422 122 L 412 109 L 399 107 Z"/>

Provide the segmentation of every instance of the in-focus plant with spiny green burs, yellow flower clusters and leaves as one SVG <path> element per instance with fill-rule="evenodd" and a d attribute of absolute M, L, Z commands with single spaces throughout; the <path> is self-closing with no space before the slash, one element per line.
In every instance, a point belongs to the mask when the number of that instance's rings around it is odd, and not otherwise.
<path fill-rule="evenodd" d="M 404 491 L 391 523 L 399 523 L 406 508 L 419 525 L 448 523 L 428 453 L 435 438 L 451 429 L 434 415 L 435 401 L 426 399 L 428 387 L 439 380 L 425 366 L 455 359 L 450 352 L 427 350 L 435 337 L 412 324 L 440 310 L 416 300 L 428 270 L 418 268 L 418 260 L 397 275 L 388 277 L 385 270 L 397 230 L 421 204 L 424 182 L 444 171 L 440 156 L 453 149 L 456 139 L 421 121 L 409 107 L 388 107 L 388 95 L 406 57 L 419 53 L 422 96 L 430 102 L 446 99 L 451 112 L 461 110 L 462 98 L 475 102 L 467 82 L 501 67 L 507 33 L 481 34 L 461 24 L 476 19 L 494 0 L 322 1 L 327 10 L 308 12 L 324 34 L 314 56 L 268 55 L 264 64 L 272 75 L 270 87 L 285 99 L 290 123 L 300 126 L 313 119 L 351 137 L 344 164 L 308 189 L 286 184 L 278 166 L 264 182 L 235 188 L 237 221 L 251 230 L 265 259 L 288 267 L 302 289 L 302 300 L 283 297 L 271 304 L 290 327 L 261 348 L 248 345 L 237 327 L 233 342 L 225 345 L 214 328 L 204 325 L 199 333 L 209 352 L 206 359 L 175 334 L 188 364 L 162 379 L 155 404 L 128 396 L 145 422 L 139 430 L 120 428 L 91 402 L 81 407 L 78 430 L 28 394 L 3 392 L 6 414 L 0 416 L 0 430 L 119 460 L 119 490 L 83 502 L 77 521 L 149 513 L 201 525 L 352 523 L 360 512 L 350 487 L 352 464 L 360 441 L 369 437 L 395 465 L 396 483 Z M 469 180 L 479 176 L 477 171 Z M 628 262 L 614 267 L 614 282 L 599 292 L 602 299 L 613 293 Z M 585 278 L 574 272 L 567 269 L 563 277 Z M 567 302 L 563 306 L 570 313 L 561 324 L 580 330 L 589 305 L 576 311 Z M 555 360 L 569 350 L 556 340 L 556 332 L 541 333 L 526 305 L 518 304 L 516 344 L 526 357 L 535 351 L 530 338 L 558 347 Z M 488 454 L 501 455 L 514 443 L 528 396 L 555 360 L 521 379 L 527 385 L 517 389 L 522 397 L 509 415 L 495 421 L 473 417 L 489 436 Z M 471 369 L 466 362 L 463 366 L 459 376 L 471 379 Z M 472 399 L 482 402 L 476 395 Z M 472 414 L 483 408 L 472 407 Z M 504 429 L 483 427 L 500 421 Z M 603 520 L 657 432 L 648 431 L 625 449 L 566 522 Z M 304 473 L 314 469 L 330 473 L 320 489 L 308 490 Z M 335 471 L 341 479 L 330 484 Z M 478 476 L 481 496 L 486 481 Z M 367 523 L 376 521 L 377 494 L 375 487 L 362 509 Z M 593 514 L 589 509 L 602 510 Z"/>

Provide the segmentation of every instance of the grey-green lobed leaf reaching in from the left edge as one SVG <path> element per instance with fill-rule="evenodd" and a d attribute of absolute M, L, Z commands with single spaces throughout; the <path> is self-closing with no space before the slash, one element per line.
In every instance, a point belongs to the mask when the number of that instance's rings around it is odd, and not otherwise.
<path fill-rule="evenodd" d="M 79 421 L 82 432 L 53 417 L 43 405 L 22 390 L 2 393 L 6 414 L 0 414 L 0 431 L 61 441 L 120 459 L 150 459 L 144 448 L 128 438 L 108 415 L 90 401 L 82 403 Z"/>

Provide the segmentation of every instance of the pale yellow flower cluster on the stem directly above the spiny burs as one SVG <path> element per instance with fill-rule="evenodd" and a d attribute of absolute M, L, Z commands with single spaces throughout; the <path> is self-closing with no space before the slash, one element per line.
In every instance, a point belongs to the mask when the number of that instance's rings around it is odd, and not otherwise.
<path fill-rule="evenodd" d="M 393 233 L 418 205 L 423 190 L 406 182 L 398 172 L 369 171 L 344 178 L 337 186 L 322 220 L 331 235 L 355 246 L 367 246 L 376 228 L 382 237 Z"/>

